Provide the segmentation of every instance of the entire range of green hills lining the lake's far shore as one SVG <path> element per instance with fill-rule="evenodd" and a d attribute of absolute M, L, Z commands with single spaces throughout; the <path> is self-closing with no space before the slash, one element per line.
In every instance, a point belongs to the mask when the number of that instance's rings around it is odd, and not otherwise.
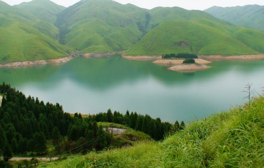
<path fill-rule="evenodd" d="M 263 31 L 239 28 L 206 12 L 180 7 L 148 10 L 113 0 L 81 0 L 65 8 L 50 0 L 16 6 L 0 1 L 0 20 L 0 62 L 57 58 L 66 51 L 264 53 Z"/>

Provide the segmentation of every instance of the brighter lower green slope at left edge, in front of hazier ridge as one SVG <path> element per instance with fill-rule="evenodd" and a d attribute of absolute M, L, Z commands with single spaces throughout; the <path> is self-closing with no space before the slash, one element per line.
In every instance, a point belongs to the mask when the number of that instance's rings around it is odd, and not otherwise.
<path fill-rule="evenodd" d="M 0 62 L 58 58 L 68 50 L 18 20 L 0 17 Z"/>

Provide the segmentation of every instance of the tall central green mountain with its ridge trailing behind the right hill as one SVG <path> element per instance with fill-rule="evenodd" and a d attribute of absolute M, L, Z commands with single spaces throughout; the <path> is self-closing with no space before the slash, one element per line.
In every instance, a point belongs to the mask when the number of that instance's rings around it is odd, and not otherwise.
<path fill-rule="evenodd" d="M 58 14 L 61 44 L 81 52 L 127 50 L 165 20 L 206 18 L 230 25 L 206 12 L 179 7 L 142 9 L 113 0 L 81 0 Z"/>

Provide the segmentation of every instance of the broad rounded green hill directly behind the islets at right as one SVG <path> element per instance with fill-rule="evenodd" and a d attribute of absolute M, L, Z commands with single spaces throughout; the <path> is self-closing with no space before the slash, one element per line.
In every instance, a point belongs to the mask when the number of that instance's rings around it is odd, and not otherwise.
<path fill-rule="evenodd" d="M 250 55 L 264 52 L 264 31 L 219 24 L 206 19 L 165 21 L 147 33 L 127 55 L 194 53 Z"/>

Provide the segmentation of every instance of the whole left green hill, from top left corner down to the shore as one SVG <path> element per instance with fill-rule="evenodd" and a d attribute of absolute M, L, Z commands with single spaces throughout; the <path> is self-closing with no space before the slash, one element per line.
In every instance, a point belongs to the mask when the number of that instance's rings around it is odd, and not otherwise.
<path fill-rule="evenodd" d="M 58 58 L 73 51 L 52 38 L 57 28 L 2 1 L 0 30 L 0 62 Z"/>

